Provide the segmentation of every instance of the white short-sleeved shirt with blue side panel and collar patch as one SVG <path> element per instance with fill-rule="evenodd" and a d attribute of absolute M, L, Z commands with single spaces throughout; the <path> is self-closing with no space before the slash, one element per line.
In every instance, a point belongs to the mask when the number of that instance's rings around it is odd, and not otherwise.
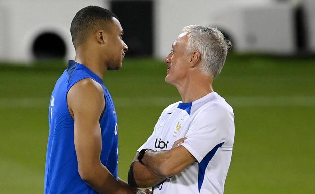
<path fill-rule="evenodd" d="M 232 107 L 216 92 L 190 102 L 168 106 L 153 134 L 138 149 L 170 150 L 179 138 L 198 162 L 154 187 L 158 193 L 223 193 L 234 142 Z"/>

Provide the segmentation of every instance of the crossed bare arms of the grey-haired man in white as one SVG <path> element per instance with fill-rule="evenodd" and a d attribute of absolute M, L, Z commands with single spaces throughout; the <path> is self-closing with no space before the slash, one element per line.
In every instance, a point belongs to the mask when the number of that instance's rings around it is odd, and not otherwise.
<path fill-rule="evenodd" d="M 139 152 L 136 153 L 130 165 L 128 183 L 131 187 L 152 187 L 158 185 L 166 178 L 182 172 L 196 159 L 184 147 L 178 145 L 186 138 L 174 142 L 171 150 L 145 152 L 141 164 L 138 161 Z"/>

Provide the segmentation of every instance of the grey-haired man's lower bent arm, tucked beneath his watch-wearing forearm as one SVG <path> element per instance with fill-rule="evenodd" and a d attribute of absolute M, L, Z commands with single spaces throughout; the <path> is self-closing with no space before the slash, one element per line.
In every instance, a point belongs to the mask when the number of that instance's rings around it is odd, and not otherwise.
<path fill-rule="evenodd" d="M 138 161 L 139 152 L 136 153 L 133 162 L 130 165 L 128 173 L 128 183 L 131 187 L 152 187 L 165 178 L 155 176 L 150 170 Z"/>

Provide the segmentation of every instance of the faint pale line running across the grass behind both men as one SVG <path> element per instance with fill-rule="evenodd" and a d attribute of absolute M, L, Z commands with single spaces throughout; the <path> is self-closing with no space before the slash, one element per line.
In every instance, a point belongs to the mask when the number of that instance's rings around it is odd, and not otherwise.
<path fill-rule="evenodd" d="M 232 106 L 315 106 L 315 96 L 228 96 Z M 0 108 L 44 108 L 49 106 L 49 97 L 0 98 Z M 117 107 L 162 106 L 179 101 L 176 97 L 113 97 Z"/>

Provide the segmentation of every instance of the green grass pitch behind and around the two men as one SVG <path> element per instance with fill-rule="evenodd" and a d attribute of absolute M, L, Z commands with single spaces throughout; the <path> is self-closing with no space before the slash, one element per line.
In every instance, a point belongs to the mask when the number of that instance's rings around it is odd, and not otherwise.
<path fill-rule="evenodd" d="M 48 105 L 62 62 L 0 66 L 0 193 L 43 193 Z M 127 59 L 104 78 L 118 115 L 119 175 L 180 97 L 166 65 Z M 225 193 L 315 193 L 315 59 L 228 57 L 214 89 L 234 108 Z"/>

